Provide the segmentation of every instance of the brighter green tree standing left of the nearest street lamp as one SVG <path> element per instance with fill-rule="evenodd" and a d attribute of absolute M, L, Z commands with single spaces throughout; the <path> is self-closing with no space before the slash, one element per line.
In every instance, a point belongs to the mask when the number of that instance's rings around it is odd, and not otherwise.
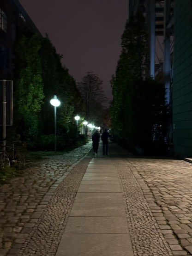
<path fill-rule="evenodd" d="M 41 60 L 38 54 L 41 42 L 36 34 L 24 33 L 15 48 L 15 103 L 19 113 L 39 112 L 44 98 Z M 22 63 L 22 64 L 21 64 Z"/>

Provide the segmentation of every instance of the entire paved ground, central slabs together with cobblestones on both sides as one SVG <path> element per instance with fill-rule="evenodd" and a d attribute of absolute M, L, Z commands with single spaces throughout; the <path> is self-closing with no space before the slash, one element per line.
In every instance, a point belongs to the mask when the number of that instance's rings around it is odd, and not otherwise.
<path fill-rule="evenodd" d="M 192 255 L 192 164 L 90 147 L 0 187 L 0 256 Z"/>

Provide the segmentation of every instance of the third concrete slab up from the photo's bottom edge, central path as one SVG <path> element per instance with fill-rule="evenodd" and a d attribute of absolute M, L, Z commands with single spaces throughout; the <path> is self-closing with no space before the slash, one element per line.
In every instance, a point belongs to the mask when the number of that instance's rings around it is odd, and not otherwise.
<path fill-rule="evenodd" d="M 126 211 L 120 203 L 74 203 L 70 216 L 126 217 Z"/>

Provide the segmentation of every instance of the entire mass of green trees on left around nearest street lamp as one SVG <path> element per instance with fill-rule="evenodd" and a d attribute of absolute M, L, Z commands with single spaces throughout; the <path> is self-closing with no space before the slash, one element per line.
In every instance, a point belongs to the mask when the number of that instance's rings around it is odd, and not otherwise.
<path fill-rule="evenodd" d="M 54 150 L 54 107 L 50 104 L 54 95 L 61 102 L 57 108 L 58 150 L 74 147 L 77 142 L 74 115 L 82 109 L 83 100 L 75 80 L 62 67 L 61 58 L 48 35 L 39 38 L 33 30 L 24 29 L 18 36 L 14 52 L 14 125 L 9 134 L 21 134 L 30 150 Z"/>

